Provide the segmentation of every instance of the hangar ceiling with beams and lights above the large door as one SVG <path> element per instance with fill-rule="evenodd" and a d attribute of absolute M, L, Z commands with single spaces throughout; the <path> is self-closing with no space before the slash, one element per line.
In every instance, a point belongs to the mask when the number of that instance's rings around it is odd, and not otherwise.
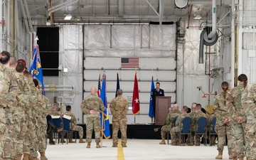
<path fill-rule="evenodd" d="M 22 0 L 20 0 L 22 1 Z M 211 17 L 211 0 L 23 0 L 27 2 L 32 20 L 63 23 L 118 21 L 178 21 L 181 17 L 200 14 Z M 185 3 L 179 9 L 177 3 Z M 218 6 L 229 5 L 217 1 Z M 26 5 L 26 4 L 24 4 Z M 65 21 L 66 15 L 72 15 Z"/>

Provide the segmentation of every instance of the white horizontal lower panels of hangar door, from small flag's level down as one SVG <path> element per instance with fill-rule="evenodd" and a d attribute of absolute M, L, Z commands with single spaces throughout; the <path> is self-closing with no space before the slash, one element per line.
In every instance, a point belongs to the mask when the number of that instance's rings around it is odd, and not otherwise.
<path fill-rule="evenodd" d="M 119 74 L 119 85 L 123 90 L 123 96 L 129 100 L 132 106 L 132 94 L 134 88 L 135 69 L 121 68 L 122 58 L 85 58 L 84 70 L 84 96 L 90 95 L 90 87 L 97 87 L 99 75 L 107 76 L 107 102 L 110 105 L 115 96 L 117 87 L 117 73 Z M 135 117 L 136 123 L 149 123 L 149 98 L 151 92 L 151 76 L 154 83 L 160 82 L 166 96 L 171 96 L 171 103 L 176 103 L 176 60 L 174 58 L 139 58 L 137 69 L 137 80 L 139 85 L 140 112 Z M 110 123 L 112 115 L 108 110 Z M 128 124 L 134 123 L 132 110 L 128 112 Z"/>

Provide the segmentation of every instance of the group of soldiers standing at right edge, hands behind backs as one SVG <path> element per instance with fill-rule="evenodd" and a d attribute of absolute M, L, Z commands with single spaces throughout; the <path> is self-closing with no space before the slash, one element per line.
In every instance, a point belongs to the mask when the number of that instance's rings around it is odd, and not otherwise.
<path fill-rule="evenodd" d="M 256 160 L 256 84 L 247 85 L 247 76 L 238 76 L 239 85 L 228 89 L 228 82 L 221 84 L 222 92 L 215 96 L 218 133 L 218 156 L 222 159 L 225 134 L 228 137 L 229 159 Z"/>

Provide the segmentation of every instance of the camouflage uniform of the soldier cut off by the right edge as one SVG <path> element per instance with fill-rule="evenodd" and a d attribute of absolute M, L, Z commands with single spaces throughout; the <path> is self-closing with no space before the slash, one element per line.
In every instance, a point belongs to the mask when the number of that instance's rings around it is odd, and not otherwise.
<path fill-rule="evenodd" d="M 245 153 L 250 160 L 256 160 L 256 84 L 252 85 L 250 88 L 243 105 L 247 111 L 247 121 L 245 124 Z"/>

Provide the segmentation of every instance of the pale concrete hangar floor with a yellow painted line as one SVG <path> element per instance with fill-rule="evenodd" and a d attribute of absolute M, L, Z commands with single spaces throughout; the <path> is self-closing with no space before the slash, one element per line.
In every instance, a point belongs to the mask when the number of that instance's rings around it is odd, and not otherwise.
<path fill-rule="evenodd" d="M 49 160 L 140 160 L 140 159 L 215 159 L 217 146 L 171 146 L 160 145 L 161 140 L 128 139 L 127 148 L 119 144 L 117 148 L 112 147 L 112 139 L 103 139 L 101 149 L 95 148 L 95 142 L 87 149 L 87 144 L 55 144 L 48 145 L 46 156 Z M 228 148 L 225 146 L 223 159 L 228 159 Z"/>

